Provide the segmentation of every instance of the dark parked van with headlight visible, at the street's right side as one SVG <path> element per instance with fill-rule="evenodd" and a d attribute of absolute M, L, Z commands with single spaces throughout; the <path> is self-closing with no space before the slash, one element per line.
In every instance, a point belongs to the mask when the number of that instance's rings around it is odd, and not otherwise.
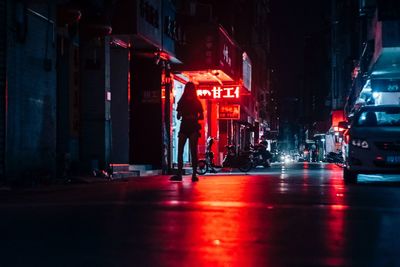
<path fill-rule="evenodd" d="M 400 173 L 400 105 L 364 106 L 344 133 L 343 178 L 360 173 Z"/>

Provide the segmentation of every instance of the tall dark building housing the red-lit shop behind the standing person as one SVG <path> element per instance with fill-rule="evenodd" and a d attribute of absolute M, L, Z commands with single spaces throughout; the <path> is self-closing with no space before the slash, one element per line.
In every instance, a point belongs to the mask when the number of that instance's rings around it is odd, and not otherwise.
<path fill-rule="evenodd" d="M 276 131 L 276 128 L 271 129 L 271 121 L 274 119 L 276 122 L 276 119 L 272 116 L 273 108 L 269 105 L 269 1 L 178 2 L 180 15 L 189 27 L 186 31 L 187 44 L 181 46 L 188 51 L 188 56 L 182 57 L 183 64 L 179 68 L 183 68 L 185 73 L 199 80 L 198 84 L 203 92 L 212 92 L 214 88 L 220 88 L 223 92 L 228 92 L 231 88 L 240 88 L 236 98 L 228 99 L 223 96 L 222 99 L 206 99 L 207 97 L 202 96 L 205 98 L 203 103 L 207 116 L 204 125 L 206 132 L 202 137 L 204 140 L 200 140 L 200 151 L 204 151 L 208 136 L 215 137 L 214 154 L 217 156 L 217 163 L 220 163 L 227 144 L 246 149 L 250 144 L 258 142 L 260 135 L 270 133 L 271 130 Z M 213 44 L 213 37 L 208 31 L 205 33 L 207 37 L 203 48 L 195 45 L 197 48 L 191 49 L 190 42 L 204 43 L 204 27 L 213 28 L 211 31 L 219 28 L 223 33 L 222 39 L 226 41 L 221 42 L 220 47 L 216 46 L 214 50 L 209 49 L 209 45 Z M 207 54 L 211 57 L 216 56 L 217 62 L 224 66 L 199 62 L 207 60 Z M 211 62 L 213 59 L 209 60 Z M 214 70 L 211 74 L 221 75 L 211 75 L 210 80 L 204 76 L 200 77 L 207 75 L 207 70 Z M 223 118 L 221 109 L 240 109 L 240 114 L 234 119 Z M 273 125 L 276 127 L 277 124 Z M 273 139 L 273 135 L 268 136 Z"/>

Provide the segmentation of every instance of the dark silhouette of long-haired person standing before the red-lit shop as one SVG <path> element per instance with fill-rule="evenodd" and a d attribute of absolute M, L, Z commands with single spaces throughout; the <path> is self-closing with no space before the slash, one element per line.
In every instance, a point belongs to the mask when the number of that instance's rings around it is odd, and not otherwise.
<path fill-rule="evenodd" d="M 183 169 L 183 148 L 186 140 L 189 139 L 190 153 L 192 156 L 192 181 L 197 182 L 199 178 L 196 176 L 197 169 L 197 144 L 200 137 L 199 120 L 204 119 L 203 107 L 197 97 L 196 87 L 192 82 L 185 85 L 182 97 L 176 108 L 178 112 L 177 118 L 181 119 L 181 127 L 178 135 L 178 173 L 170 178 L 171 181 L 182 181 Z"/>

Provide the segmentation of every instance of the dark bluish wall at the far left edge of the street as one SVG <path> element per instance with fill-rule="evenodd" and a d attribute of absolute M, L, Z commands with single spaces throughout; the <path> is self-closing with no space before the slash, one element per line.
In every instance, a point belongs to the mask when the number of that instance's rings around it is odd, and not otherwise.
<path fill-rule="evenodd" d="M 2 1 L 0 6 L 1 174 L 3 180 L 54 176 L 55 5 L 47 1 Z"/>

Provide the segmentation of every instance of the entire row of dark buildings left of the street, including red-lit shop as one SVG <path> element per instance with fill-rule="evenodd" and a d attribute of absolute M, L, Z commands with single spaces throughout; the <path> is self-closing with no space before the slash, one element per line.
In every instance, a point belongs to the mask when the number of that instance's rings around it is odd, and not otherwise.
<path fill-rule="evenodd" d="M 222 7 L 213 1 L 1 0 L 2 182 L 111 174 L 121 166 L 169 173 L 177 131 L 175 87 L 189 80 L 199 89 L 238 94 L 227 102 L 202 100 L 207 115 L 200 149 L 208 136 L 242 148 L 257 141 L 270 123 L 267 34 L 258 36 L 268 1 L 256 2 L 233 5 L 248 7 L 243 21 L 256 15 L 246 35 L 233 19 L 236 9 L 223 17 L 223 10 L 210 12 Z M 194 27 L 191 21 L 198 19 L 204 31 L 185 32 L 184 25 Z M 200 66 L 196 60 L 204 55 L 192 57 L 197 48 L 188 44 L 211 41 L 207 38 L 213 41 L 203 43 L 206 49 L 210 43 L 215 47 L 205 55 L 215 62 Z M 203 70 L 215 78 L 212 84 L 199 82 Z M 222 119 L 236 107 L 224 113 L 226 103 L 240 105 L 237 120 Z"/>

